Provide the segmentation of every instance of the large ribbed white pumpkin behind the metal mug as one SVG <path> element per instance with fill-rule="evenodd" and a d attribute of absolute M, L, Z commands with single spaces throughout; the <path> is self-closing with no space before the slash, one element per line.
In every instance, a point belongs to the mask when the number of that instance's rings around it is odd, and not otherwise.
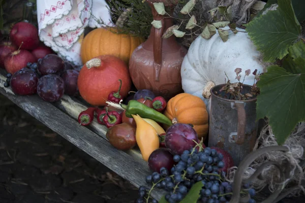
<path fill-rule="evenodd" d="M 228 30 L 226 26 L 223 29 Z M 239 29 L 245 31 L 244 29 Z M 241 82 L 245 71 L 250 69 L 251 74 L 243 84 L 253 85 L 255 69 L 263 73 L 263 65 L 258 58 L 260 52 L 248 37 L 247 32 L 238 32 L 236 35 L 229 30 L 228 41 L 223 42 L 218 32 L 206 40 L 198 37 L 190 46 L 188 54 L 181 64 L 182 89 L 186 93 L 199 96 L 208 107 L 208 99 L 204 98 L 203 91 L 209 96 L 209 90 L 214 85 L 225 83 L 225 73 L 231 82 L 237 82 L 234 70 L 242 69 Z M 207 87 L 209 86 L 209 88 Z"/>

